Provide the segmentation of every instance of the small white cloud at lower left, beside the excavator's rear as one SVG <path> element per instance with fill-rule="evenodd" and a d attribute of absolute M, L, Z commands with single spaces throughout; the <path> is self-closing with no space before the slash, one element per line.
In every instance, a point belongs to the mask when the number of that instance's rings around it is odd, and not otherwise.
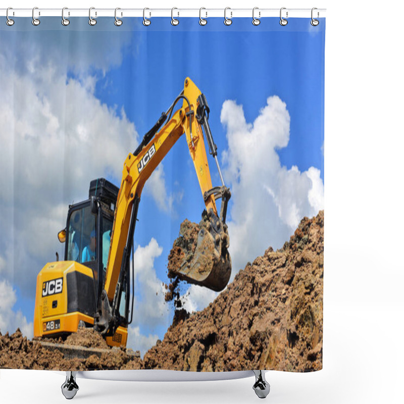
<path fill-rule="evenodd" d="M 20 328 L 23 335 L 33 336 L 33 323 L 28 323 L 20 310 L 13 311 L 16 304 L 16 291 L 7 281 L 0 281 L 0 331 L 4 335 L 7 331 L 12 334 Z"/>

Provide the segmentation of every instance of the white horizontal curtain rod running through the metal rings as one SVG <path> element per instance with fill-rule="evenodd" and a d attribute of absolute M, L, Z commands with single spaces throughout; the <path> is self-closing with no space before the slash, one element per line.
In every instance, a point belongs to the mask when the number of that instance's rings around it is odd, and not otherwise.
<path fill-rule="evenodd" d="M 224 17 L 224 9 L 146 9 L 145 16 L 149 17 Z M 287 13 L 287 15 L 286 15 Z M 326 9 L 315 9 L 314 18 L 325 17 Z M 7 9 L 0 9 L 0 16 L 6 17 Z M 64 11 L 65 18 L 67 17 L 88 17 L 89 9 L 69 9 Z M 232 9 L 227 8 L 226 15 L 228 18 L 237 17 L 252 17 L 252 8 L 250 9 Z M 62 9 L 41 9 L 35 8 L 35 18 L 38 17 L 61 17 Z M 115 9 L 98 9 L 92 8 L 91 17 L 114 17 Z M 118 17 L 143 17 L 143 9 L 119 9 L 117 11 Z M 255 10 L 256 18 L 265 17 L 279 17 L 280 9 L 260 9 Z M 288 9 L 283 8 L 283 18 L 310 18 L 312 16 L 312 9 Z M 32 17 L 32 9 L 10 9 L 9 17 Z"/>

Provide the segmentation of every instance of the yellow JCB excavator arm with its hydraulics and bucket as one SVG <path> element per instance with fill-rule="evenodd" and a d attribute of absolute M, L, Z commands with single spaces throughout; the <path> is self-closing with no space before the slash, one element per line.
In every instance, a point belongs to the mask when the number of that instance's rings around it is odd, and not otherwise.
<path fill-rule="evenodd" d="M 182 107 L 173 113 L 180 100 Z M 116 328 L 116 316 L 124 277 L 129 268 L 137 210 L 144 184 L 184 133 L 206 206 L 206 214 L 203 215 L 206 226 L 198 233 L 193 258 L 178 269 L 178 276 L 190 283 L 216 291 L 222 290 L 229 281 L 231 260 L 227 251 L 229 237 L 225 220 L 231 194 L 224 184 L 220 171 L 217 147 L 213 141 L 208 117 L 209 107 L 204 94 L 201 94 L 192 80 L 186 78 L 184 90 L 167 112 L 162 114 L 155 126 L 144 135 L 134 153 L 130 153 L 125 160 L 111 235 L 105 286 L 94 318 L 94 327 L 102 334 L 109 335 Z M 215 158 L 222 186 L 212 186 L 202 128 L 205 130 L 210 153 Z M 219 214 L 216 207 L 217 198 L 222 198 Z"/>

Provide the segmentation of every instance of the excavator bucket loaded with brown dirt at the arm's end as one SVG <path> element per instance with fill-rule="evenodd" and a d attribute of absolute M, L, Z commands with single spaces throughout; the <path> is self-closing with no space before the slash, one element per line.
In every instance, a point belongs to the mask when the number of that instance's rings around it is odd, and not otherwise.
<path fill-rule="evenodd" d="M 169 277 L 223 290 L 231 275 L 228 247 L 227 225 L 212 210 L 204 211 L 199 224 L 185 220 L 169 256 Z"/>

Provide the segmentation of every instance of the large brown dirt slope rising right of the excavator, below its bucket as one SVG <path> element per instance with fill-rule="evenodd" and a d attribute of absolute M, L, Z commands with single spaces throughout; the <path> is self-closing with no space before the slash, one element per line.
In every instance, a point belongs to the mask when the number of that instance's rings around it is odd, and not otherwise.
<path fill-rule="evenodd" d="M 324 212 L 248 263 L 205 310 L 173 324 L 145 369 L 322 368 Z"/>

